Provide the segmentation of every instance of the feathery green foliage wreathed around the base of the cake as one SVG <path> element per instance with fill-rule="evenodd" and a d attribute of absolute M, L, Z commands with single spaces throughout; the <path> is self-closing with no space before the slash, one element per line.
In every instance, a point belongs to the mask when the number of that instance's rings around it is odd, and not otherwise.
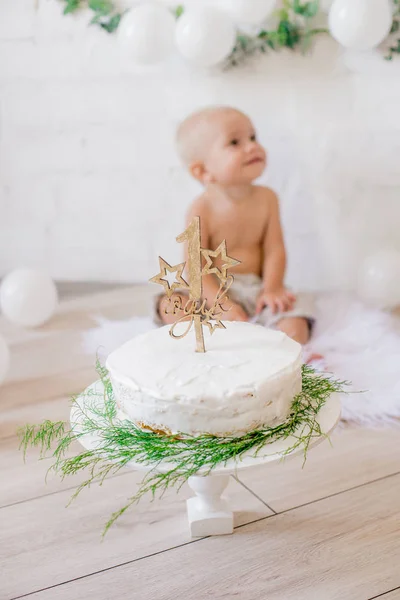
<path fill-rule="evenodd" d="M 284 423 L 276 427 L 256 429 L 237 438 L 221 438 L 209 434 L 197 437 L 185 434 L 168 436 L 143 431 L 132 421 L 121 420 L 108 372 L 99 364 L 97 371 L 104 386 L 104 396 L 99 396 L 94 390 L 87 390 L 84 393 L 84 408 L 83 403 L 73 400 L 74 406 L 80 411 L 79 430 L 76 427 L 74 430 L 70 429 L 63 421 L 46 420 L 40 425 L 26 425 L 19 431 L 19 435 L 24 457 L 29 447 L 39 447 L 41 457 L 44 457 L 55 446 L 52 451 L 54 463 L 50 470 L 60 474 L 62 479 L 86 471 L 87 479 L 77 488 L 71 501 L 84 488 L 93 482 L 101 484 L 105 477 L 117 473 L 129 461 L 149 467 L 138 491 L 111 515 L 103 535 L 142 496 L 150 492 L 154 498 L 157 492 L 162 495 L 175 485 L 179 489 L 200 469 L 208 474 L 217 465 L 224 465 L 228 460 L 240 461 L 244 453 L 249 451 L 252 451 L 252 456 L 257 456 L 266 445 L 289 436 L 293 436 L 295 441 L 285 454 L 302 448 L 306 457 L 311 440 L 322 435 L 316 420 L 318 412 L 331 394 L 343 391 L 346 385 L 346 382 L 336 381 L 326 375 L 317 375 L 313 369 L 304 365 L 302 392 L 293 399 L 291 413 Z M 66 451 L 73 440 L 90 434 L 95 434 L 100 440 L 98 447 L 66 458 Z M 164 473 L 157 472 L 157 465 L 161 462 L 170 463 L 171 468 Z"/>

